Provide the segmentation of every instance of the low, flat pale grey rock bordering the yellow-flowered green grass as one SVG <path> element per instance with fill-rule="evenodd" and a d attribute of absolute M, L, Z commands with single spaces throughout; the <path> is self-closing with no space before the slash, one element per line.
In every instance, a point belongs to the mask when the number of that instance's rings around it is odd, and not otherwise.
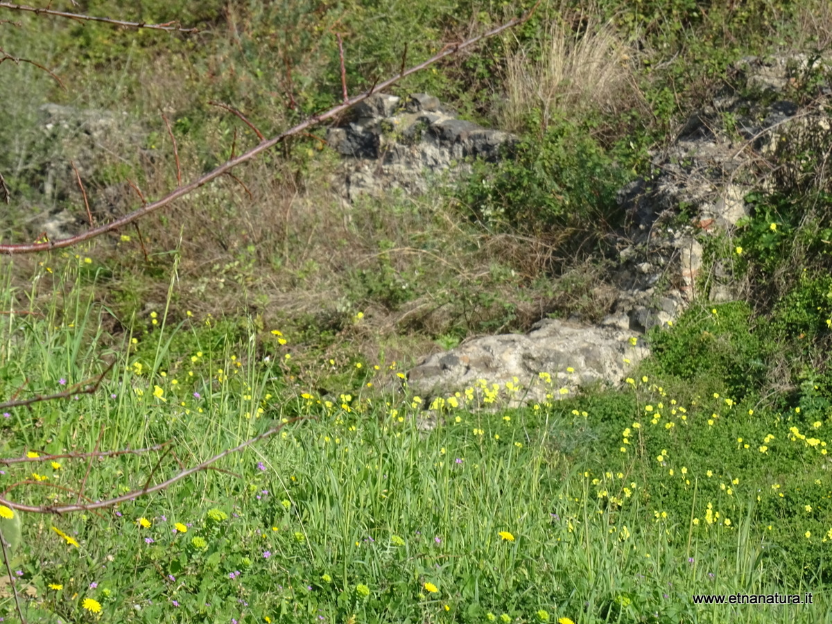
<path fill-rule="evenodd" d="M 474 390 L 476 404 L 544 403 L 592 384 L 616 385 L 648 353 L 626 329 L 544 319 L 528 334 L 468 341 L 433 354 L 408 374 L 409 389 L 432 399 Z M 571 370 L 570 370 L 571 369 Z M 429 405 L 430 401 L 428 401 Z"/>

